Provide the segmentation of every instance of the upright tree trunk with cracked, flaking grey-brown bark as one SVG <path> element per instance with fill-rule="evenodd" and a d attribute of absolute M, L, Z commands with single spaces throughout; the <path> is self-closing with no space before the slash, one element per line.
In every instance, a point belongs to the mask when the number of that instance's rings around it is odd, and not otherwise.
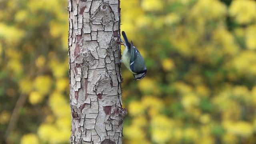
<path fill-rule="evenodd" d="M 120 1 L 68 0 L 71 144 L 121 144 Z"/>

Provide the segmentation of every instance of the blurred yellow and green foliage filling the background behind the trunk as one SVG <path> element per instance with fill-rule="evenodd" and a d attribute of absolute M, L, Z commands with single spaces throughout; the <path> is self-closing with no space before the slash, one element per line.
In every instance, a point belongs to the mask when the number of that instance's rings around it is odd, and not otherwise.
<path fill-rule="evenodd" d="M 121 29 L 148 67 L 136 82 L 122 68 L 124 143 L 254 144 L 256 1 L 121 0 L 121 8 Z M 0 0 L 0 143 L 68 144 L 67 36 L 67 0 Z"/>

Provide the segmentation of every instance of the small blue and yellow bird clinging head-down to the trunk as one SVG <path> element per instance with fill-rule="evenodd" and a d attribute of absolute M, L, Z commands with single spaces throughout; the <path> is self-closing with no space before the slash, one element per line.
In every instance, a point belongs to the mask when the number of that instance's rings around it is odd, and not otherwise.
<path fill-rule="evenodd" d="M 122 36 L 124 38 L 123 44 L 125 49 L 122 55 L 121 62 L 132 72 L 134 80 L 141 80 L 146 76 L 147 67 L 144 58 L 140 54 L 138 48 L 134 44 L 128 41 L 128 38 L 124 31 L 122 31 Z"/>

